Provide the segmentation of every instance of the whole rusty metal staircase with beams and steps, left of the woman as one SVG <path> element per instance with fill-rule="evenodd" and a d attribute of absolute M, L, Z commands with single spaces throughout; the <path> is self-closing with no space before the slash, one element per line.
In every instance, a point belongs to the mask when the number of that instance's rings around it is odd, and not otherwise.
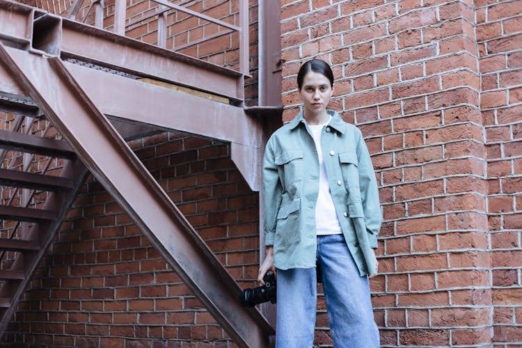
<path fill-rule="evenodd" d="M 92 173 L 239 347 L 269 347 L 274 329 L 239 305 L 235 280 L 124 138 L 175 129 L 228 141 L 257 191 L 267 125 L 248 113 L 270 110 L 246 112 L 242 72 L 125 38 L 124 8 L 116 0 L 109 33 L 0 0 L 0 110 L 15 113 L 10 131 L 0 131 L 0 334 Z"/>

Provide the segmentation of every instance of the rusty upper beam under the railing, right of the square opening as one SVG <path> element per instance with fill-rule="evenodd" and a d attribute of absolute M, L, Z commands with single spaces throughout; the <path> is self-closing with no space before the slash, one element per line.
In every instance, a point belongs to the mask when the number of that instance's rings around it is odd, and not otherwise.
<path fill-rule="evenodd" d="M 240 99 L 236 84 L 243 77 L 239 72 L 78 22 L 63 20 L 61 52 L 138 76 Z"/>

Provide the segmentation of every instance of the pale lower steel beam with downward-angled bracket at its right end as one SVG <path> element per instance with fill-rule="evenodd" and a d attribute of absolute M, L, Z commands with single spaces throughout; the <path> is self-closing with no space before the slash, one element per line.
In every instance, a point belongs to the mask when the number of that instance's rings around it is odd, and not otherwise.
<path fill-rule="evenodd" d="M 27 61 L 27 67 L 37 64 Z M 100 110 L 109 116 L 145 122 L 212 139 L 230 141 L 232 160 L 253 191 L 260 190 L 262 123 L 237 106 L 221 104 L 177 90 L 65 63 Z M 115 103 L 114 100 L 120 100 Z M 197 108 L 194 106 L 197 105 Z M 277 109 L 279 110 L 279 109 Z M 276 111 L 277 112 L 277 111 Z M 240 154 L 236 153 L 238 150 Z M 244 163 L 244 157 L 249 161 Z"/>

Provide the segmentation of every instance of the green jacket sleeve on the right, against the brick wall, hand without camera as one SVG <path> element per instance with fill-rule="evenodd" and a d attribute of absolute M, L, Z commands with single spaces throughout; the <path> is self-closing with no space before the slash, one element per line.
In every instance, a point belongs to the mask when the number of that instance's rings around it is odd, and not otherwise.
<path fill-rule="evenodd" d="M 370 152 L 366 147 L 363 134 L 356 128 L 356 144 L 358 157 L 359 184 L 365 216 L 365 225 L 370 239 L 370 246 L 377 248 L 377 235 L 381 230 L 381 205 L 379 203 L 379 188 L 370 159 Z"/>

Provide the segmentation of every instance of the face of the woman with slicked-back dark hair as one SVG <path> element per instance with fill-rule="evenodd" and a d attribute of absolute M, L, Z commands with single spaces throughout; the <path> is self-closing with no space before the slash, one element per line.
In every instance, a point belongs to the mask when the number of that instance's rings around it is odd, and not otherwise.
<path fill-rule="evenodd" d="M 319 72 L 307 72 L 303 78 L 303 86 L 299 91 L 304 102 L 306 117 L 322 115 L 333 95 L 330 80 Z"/>

